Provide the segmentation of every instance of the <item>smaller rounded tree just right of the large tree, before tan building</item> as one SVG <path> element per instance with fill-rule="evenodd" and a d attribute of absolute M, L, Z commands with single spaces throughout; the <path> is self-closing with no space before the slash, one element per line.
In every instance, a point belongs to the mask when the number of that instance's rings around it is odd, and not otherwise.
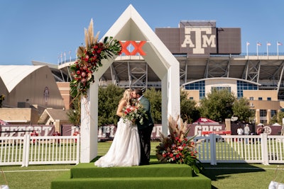
<path fill-rule="evenodd" d="M 254 117 L 254 113 L 249 108 L 249 100 L 246 98 L 239 98 L 233 104 L 234 116 L 238 117 L 241 122 L 249 122 L 250 118 Z"/>

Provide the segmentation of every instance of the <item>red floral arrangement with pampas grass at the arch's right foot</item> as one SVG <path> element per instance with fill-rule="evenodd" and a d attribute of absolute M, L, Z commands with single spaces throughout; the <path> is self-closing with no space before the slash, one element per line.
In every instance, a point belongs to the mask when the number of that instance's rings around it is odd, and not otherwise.
<path fill-rule="evenodd" d="M 197 159 L 197 146 L 202 142 L 194 142 L 194 137 L 187 138 L 190 127 L 182 118 L 174 120 L 172 116 L 168 118 L 170 135 L 160 132 L 160 144 L 156 147 L 156 156 L 160 162 L 171 164 L 187 164 L 192 167 L 195 173 L 203 171 L 202 163 Z"/>

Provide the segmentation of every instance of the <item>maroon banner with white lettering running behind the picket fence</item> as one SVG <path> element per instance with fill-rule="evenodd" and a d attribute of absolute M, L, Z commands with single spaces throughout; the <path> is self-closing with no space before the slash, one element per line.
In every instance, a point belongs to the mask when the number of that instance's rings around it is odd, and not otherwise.
<path fill-rule="evenodd" d="M 216 125 L 210 123 L 202 124 L 188 124 L 190 127 L 189 136 L 208 136 L 205 133 L 218 133 L 222 134 L 226 131 L 225 125 Z M 239 127 L 238 124 L 231 124 L 231 135 L 236 135 L 236 130 Z M 244 125 L 241 125 L 244 129 Z M 251 134 L 255 134 L 258 127 L 257 125 L 249 125 Z M 264 130 L 266 134 L 270 135 L 280 135 L 282 126 L 271 126 L 265 125 Z M 0 126 L 0 136 L 1 137 L 17 137 L 23 136 L 24 134 L 32 134 L 35 131 L 38 136 L 74 136 L 80 134 L 80 127 L 76 125 L 60 125 L 59 132 L 55 132 L 54 125 L 1 125 Z M 98 139 L 101 141 L 112 140 L 116 132 L 116 125 L 104 125 L 98 128 Z M 160 132 L 162 132 L 162 125 L 156 124 L 153 127 L 151 134 L 151 139 L 160 139 Z M 203 134 L 202 134 L 203 132 Z"/>

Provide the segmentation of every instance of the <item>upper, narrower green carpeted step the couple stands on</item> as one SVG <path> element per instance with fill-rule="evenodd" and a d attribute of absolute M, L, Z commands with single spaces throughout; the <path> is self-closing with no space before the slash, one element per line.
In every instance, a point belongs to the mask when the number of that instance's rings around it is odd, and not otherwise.
<path fill-rule="evenodd" d="M 192 177 L 185 164 L 151 164 L 148 166 L 98 168 L 94 163 L 78 164 L 71 168 L 71 178 L 136 178 Z"/>

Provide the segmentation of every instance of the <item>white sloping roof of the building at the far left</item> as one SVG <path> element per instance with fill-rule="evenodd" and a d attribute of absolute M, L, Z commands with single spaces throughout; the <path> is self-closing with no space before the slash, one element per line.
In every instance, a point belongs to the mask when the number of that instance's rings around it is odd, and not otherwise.
<path fill-rule="evenodd" d="M 0 78 L 4 82 L 9 93 L 20 83 L 26 76 L 33 73 L 36 69 L 43 66 L 1 66 L 0 65 Z"/>

